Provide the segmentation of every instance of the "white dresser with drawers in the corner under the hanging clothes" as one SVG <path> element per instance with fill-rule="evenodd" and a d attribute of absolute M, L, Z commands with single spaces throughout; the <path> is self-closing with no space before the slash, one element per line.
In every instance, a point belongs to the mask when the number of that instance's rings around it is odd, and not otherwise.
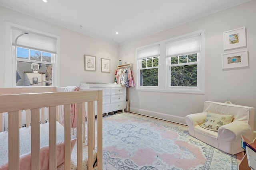
<path fill-rule="evenodd" d="M 126 87 L 111 83 L 81 83 L 80 88 L 88 90 L 102 90 L 102 113 L 122 110 L 126 108 Z M 95 102 L 95 115 L 97 103 Z"/>

